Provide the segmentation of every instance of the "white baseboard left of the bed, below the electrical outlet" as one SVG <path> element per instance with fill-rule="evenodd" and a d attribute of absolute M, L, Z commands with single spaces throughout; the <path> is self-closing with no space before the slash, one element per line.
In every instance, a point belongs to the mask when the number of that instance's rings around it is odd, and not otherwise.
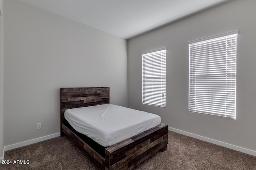
<path fill-rule="evenodd" d="M 19 147 L 24 147 L 26 145 L 30 145 L 30 144 L 33 144 L 33 143 L 45 141 L 45 140 L 52 139 L 54 137 L 59 137 L 59 136 L 60 136 L 60 133 L 54 133 L 52 135 L 47 135 L 47 136 L 44 136 L 44 137 L 39 137 L 39 138 L 36 138 L 36 139 L 31 139 L 31 140 L 28 140 L 28 141 L 24 141 L 24 142 L 15 143 L 15 144 L 12 144 L 12 145 L 5 146 L 4 150 L 3 150 L 3 157 L 0 158 L 0 160 L 4 160 L 4 151 L 6 151 L 6 150 L 16 149 L 16 148 L 19 148 Z"/>

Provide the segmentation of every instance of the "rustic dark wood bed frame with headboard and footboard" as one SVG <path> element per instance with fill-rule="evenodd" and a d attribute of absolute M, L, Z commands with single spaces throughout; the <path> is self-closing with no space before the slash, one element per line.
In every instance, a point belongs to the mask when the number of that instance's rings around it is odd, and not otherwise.
<path fill-rule="evenodd" d="M 60 88 L 60 136 L 68 135 L 102 170 L 133 169 L 158 150 L 167 148 L 167 125 L 160 125 L 104 148 L 104 155 L 84 141 L 64 118 L 66 109 L 109 104 L 109 87 Z"/>

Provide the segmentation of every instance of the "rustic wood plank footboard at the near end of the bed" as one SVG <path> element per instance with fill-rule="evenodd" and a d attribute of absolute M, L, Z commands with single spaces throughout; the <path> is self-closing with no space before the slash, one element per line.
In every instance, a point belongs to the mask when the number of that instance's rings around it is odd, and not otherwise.
<path fill-rule="evenodd" d="M 158 150 L 166 150 L 168 126 L 164 123 L 105 149 L 105 170 L 130 170 Z"/>

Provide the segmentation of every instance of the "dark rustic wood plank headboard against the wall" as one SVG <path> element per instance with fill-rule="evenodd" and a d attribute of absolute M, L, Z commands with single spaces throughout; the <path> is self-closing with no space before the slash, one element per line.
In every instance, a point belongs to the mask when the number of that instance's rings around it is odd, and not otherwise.
<path fill-rule="evenodd" d="M 60 128 L 66 109 L 99 104 L 109 104 L 109 87 L 60 88 Z"/>

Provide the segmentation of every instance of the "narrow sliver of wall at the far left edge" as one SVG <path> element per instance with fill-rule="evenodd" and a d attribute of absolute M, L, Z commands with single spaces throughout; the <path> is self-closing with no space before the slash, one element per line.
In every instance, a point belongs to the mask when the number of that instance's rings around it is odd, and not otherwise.
<path fill-rule="evenodd" d="M 0 10 L 3 14 L 3 0 L 0 0 Z M 0 16 L 0 158 L 4 149 L 4 54 L 3 54 L 3 21 Z"/>

